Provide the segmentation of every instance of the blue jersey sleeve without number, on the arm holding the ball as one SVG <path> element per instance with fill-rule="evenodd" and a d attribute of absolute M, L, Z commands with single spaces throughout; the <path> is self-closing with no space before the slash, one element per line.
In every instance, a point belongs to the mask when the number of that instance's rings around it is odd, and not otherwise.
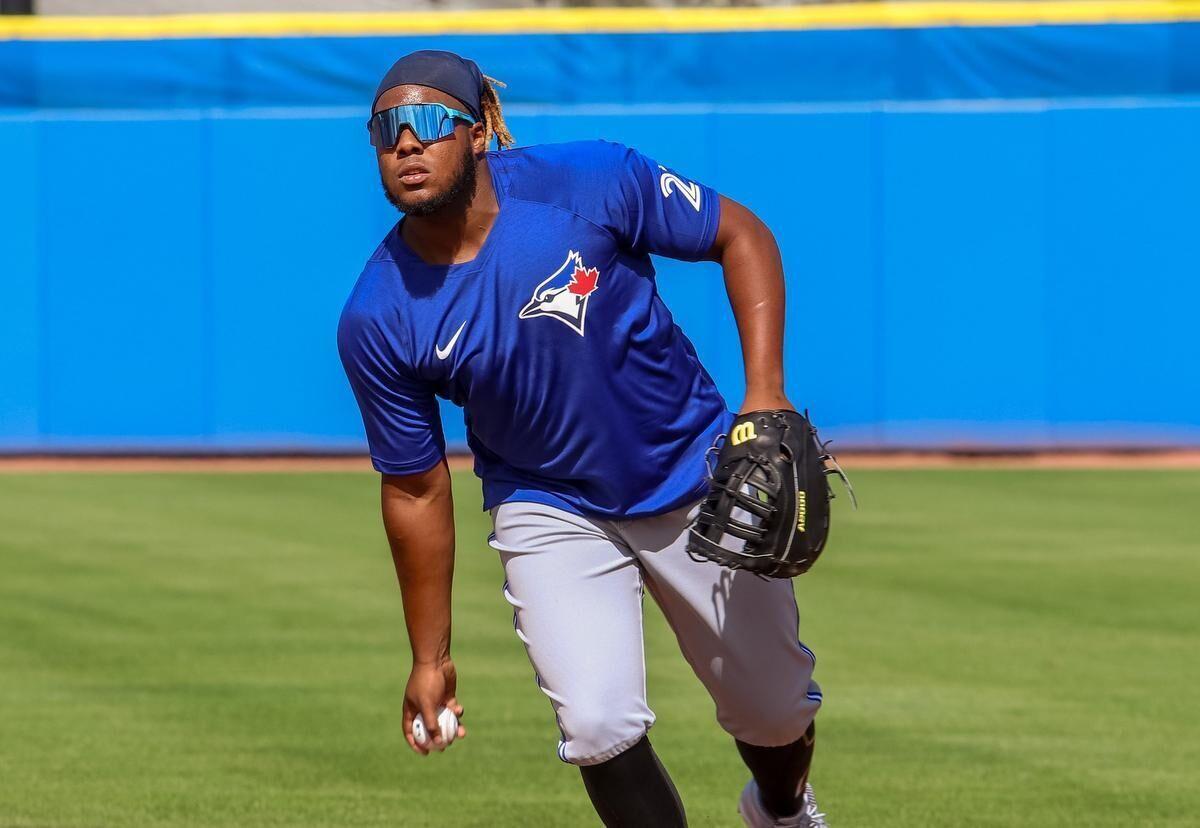
<path fill-rule="evenodd" d="M 445 456 L 442 419 L 432 389 L 404 371 L 391 342 L 370 316 L 348 307 L 337 329 L 337 349 L 371 448 L 384 474 L 419 474 Z"/>

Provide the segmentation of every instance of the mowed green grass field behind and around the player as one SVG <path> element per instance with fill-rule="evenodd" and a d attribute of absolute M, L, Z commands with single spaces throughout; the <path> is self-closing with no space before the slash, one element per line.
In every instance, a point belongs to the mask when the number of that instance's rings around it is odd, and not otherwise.
<path fill-rule="evenodd" d="M 1200 824 L 1200 473 L 854 475 L 797 582 L 834 826 Z M 456 476 L 470 734 L 400 734 L 370 474 L 0 475 L 0 826 L 587 826 Z M 649 605 L 649 599 L 647 599 Z M 656 612 L 694 826 L 745 773 Z"/>

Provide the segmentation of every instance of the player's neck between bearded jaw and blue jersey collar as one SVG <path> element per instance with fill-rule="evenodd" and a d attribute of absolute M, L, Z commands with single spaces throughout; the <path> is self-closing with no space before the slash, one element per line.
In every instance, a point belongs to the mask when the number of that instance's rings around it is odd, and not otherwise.
<path fill-rule="evenodd" d="M 500 214 L 487 161 L 480 161 L 475 192 L 430 216 L 408 216 L 401 234 L 409 248 L 428 264 L 462 264 L 479 254 Z"/>

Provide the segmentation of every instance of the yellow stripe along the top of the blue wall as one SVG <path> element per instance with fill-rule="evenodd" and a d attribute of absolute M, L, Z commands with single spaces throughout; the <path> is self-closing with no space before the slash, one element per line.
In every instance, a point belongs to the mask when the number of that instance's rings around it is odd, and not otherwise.
<path fill-rule="evenodd" d="M 1200 20 L 1200 0 L 854 2 L 766 8 L 0 17 L 0 40 L 911 29 Z"/>

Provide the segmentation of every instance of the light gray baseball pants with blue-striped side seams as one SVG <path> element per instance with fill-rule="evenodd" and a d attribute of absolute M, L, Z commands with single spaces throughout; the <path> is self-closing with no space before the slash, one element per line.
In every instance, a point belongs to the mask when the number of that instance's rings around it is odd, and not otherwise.
<path fill-rule="evenodd" d="M 538 686 L 554 708 L 558 756 L 596 764 L 654 724 L 646 702 L 643 588 L 716 703 L 751 745 L 791 744 L 821 706 L 815 656 L 797 640 L 791 581 L 764 581 L 686 551 L 698 508 L 636 520 L 581 517 L 538 503 L 492 509 L 488 540 Z"/>

